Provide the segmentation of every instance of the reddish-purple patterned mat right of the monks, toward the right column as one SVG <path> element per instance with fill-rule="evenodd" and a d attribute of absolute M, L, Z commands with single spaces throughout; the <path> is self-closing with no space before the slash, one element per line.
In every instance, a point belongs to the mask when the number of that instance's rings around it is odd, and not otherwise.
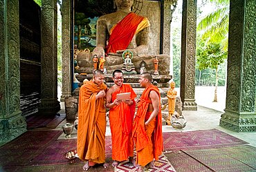
<path fill-rule="evenodd" d="M 242 144 L 248 143 L 217 129 L 163 133 L 163 147 L 165 151 L 205 149 Z"/>

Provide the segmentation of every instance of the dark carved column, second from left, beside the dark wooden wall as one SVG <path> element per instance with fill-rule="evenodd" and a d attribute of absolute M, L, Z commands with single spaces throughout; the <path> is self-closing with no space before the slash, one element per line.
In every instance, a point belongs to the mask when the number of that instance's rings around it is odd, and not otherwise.
<path fill-rule="evenodd" d="M 57 0 L 42 0 L 42 93 L 40 113 L 51 115 L 60 110 L 57 101 Z"/>

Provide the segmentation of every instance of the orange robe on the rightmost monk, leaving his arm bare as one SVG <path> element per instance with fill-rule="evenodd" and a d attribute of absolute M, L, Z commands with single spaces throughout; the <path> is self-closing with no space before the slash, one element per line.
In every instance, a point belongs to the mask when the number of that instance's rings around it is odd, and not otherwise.
<path fill-rule="evenodd" d="M 136 163 L 141 166 L 147 165 L 154 159 L 158 160 L 158 156 L 163 151 L 161 104 L 159 104 L 158 115 L 145 126 L 145 122 L 151 115 L 151 113 L 147 112 L 147 109 L 149 104 L 152 104 L 149 99 L 149 93 L 152 90 L 158 93 L 159 101 L 161 101 L 158 88 L 154 85 L 147 86 L 140 97 L 138 111 L 134 119 L 132 137 L 136 145 Z"/>

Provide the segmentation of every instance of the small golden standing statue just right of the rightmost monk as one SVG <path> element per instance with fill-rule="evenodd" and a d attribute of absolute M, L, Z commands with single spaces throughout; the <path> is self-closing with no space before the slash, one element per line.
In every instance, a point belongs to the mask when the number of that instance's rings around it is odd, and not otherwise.
<path fill-rule="evenodd" d="M 167 92 L 167 98 L 168 98 L 168 111 L 169 116 L 167 117 L 167 125 L 171 125 L 171 118 L 175 111 L 175 102 L 176 102 L 176 95 L 177 91 L 174 90 L 175 88 L 175 82 L 170 82 L 170 90 Z"/>

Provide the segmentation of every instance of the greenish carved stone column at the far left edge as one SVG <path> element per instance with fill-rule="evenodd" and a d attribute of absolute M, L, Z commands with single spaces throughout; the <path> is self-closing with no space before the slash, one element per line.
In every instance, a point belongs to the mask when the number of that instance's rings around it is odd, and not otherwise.
<path fill-rule="evenodd" d="M 0 1 L 0 144 L 26 131 L 19 75 L 19 1 Z"/>

